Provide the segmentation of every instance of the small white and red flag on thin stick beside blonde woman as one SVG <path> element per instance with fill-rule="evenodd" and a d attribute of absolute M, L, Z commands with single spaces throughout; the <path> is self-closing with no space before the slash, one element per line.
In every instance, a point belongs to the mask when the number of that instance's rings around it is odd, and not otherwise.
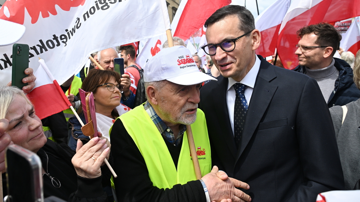
<path fill-rule="evenodd" d="M 39 63 L 40 66 L 34 73 L 36 76 L 35 86 L 27 94 L 27 97 L 34 105 L 36 115 L 43 119 L 70 108 L 71 104 L 50 73 L 45 61 L 40 59 Z"/>

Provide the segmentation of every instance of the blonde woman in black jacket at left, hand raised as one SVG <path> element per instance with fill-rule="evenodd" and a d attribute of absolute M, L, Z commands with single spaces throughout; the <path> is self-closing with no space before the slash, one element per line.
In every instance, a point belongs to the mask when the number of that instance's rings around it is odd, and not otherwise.
<path fill-rule="evenodd" d="M 102 182 L 107 185 L 111 177 L 104 166 L 110 152 L 106 139 L 95 137 L 85 145 L 78 141 L 76 152 L 72 151 L 66 144 L 57 144 L 45 137 L 41 120 L 21 89 L 0 86 L 0 102 L 0 119 L 9 121 L 8 125 L 7 121 L 4 124 L 12 142 L 35 152 L 41 159 L 45 198 L 107 201 L 102 189 Z"/>

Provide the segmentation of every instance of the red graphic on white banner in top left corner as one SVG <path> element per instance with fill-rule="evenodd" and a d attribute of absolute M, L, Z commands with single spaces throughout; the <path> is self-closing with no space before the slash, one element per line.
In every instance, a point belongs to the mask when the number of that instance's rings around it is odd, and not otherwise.
<path fill-rule="evenodd" d="M 31 23 L 35 24 L 41 12 L 42 18 L 57 15 L 55 5 L 62 10 L 69 11 L 71 7 L 84 5 L 85 0 L 12 0 L 5 1 L 0 8 L 0 19 L 18 24 L 24 24 L 25 9 L 31 17 Z M 50 13 L 50 14 L 49 14 Z"/>

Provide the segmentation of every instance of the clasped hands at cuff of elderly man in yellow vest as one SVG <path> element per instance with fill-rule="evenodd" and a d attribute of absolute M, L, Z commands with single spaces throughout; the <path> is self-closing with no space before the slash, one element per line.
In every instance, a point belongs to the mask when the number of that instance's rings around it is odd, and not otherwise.
<path fill-rule="evenodd" d="M 219 172 L 217 166 L 214 166 L 211 172 L 203 176 L 201 179 L 206 184 L 207 190 L 210 195 L 210 201 L 251 201 L 249 195 L 235 188 L 239 187 L 243 189 L 249 189 L 249 185 L 239 180 L 229 178 L 225 172 Z"/>

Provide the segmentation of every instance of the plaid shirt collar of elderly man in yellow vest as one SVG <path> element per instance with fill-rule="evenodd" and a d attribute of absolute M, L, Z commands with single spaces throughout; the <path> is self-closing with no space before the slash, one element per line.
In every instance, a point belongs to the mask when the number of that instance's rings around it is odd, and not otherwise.
<path fill-rule="evenodd" d="M 174 146 L 178 146 L 181 140 L 183 139 L 184 132 L 186 130 L 186 125 L 180 124 L 180 131 L 179 134 L 177 134 L 177 137 L 175 139 L 174 132 L 169 128 L 164 121 L 156 114 L 156 111 L 151 106 L 149 101 L 146 101 L 144 104 L 144 110 L 148 113 L 151 120 L 156 125 L 157 129 L 159 130 L 160 134 L 165 137 L 165 139 L 170 142 L 171 144 L 174 144 Z"/>

